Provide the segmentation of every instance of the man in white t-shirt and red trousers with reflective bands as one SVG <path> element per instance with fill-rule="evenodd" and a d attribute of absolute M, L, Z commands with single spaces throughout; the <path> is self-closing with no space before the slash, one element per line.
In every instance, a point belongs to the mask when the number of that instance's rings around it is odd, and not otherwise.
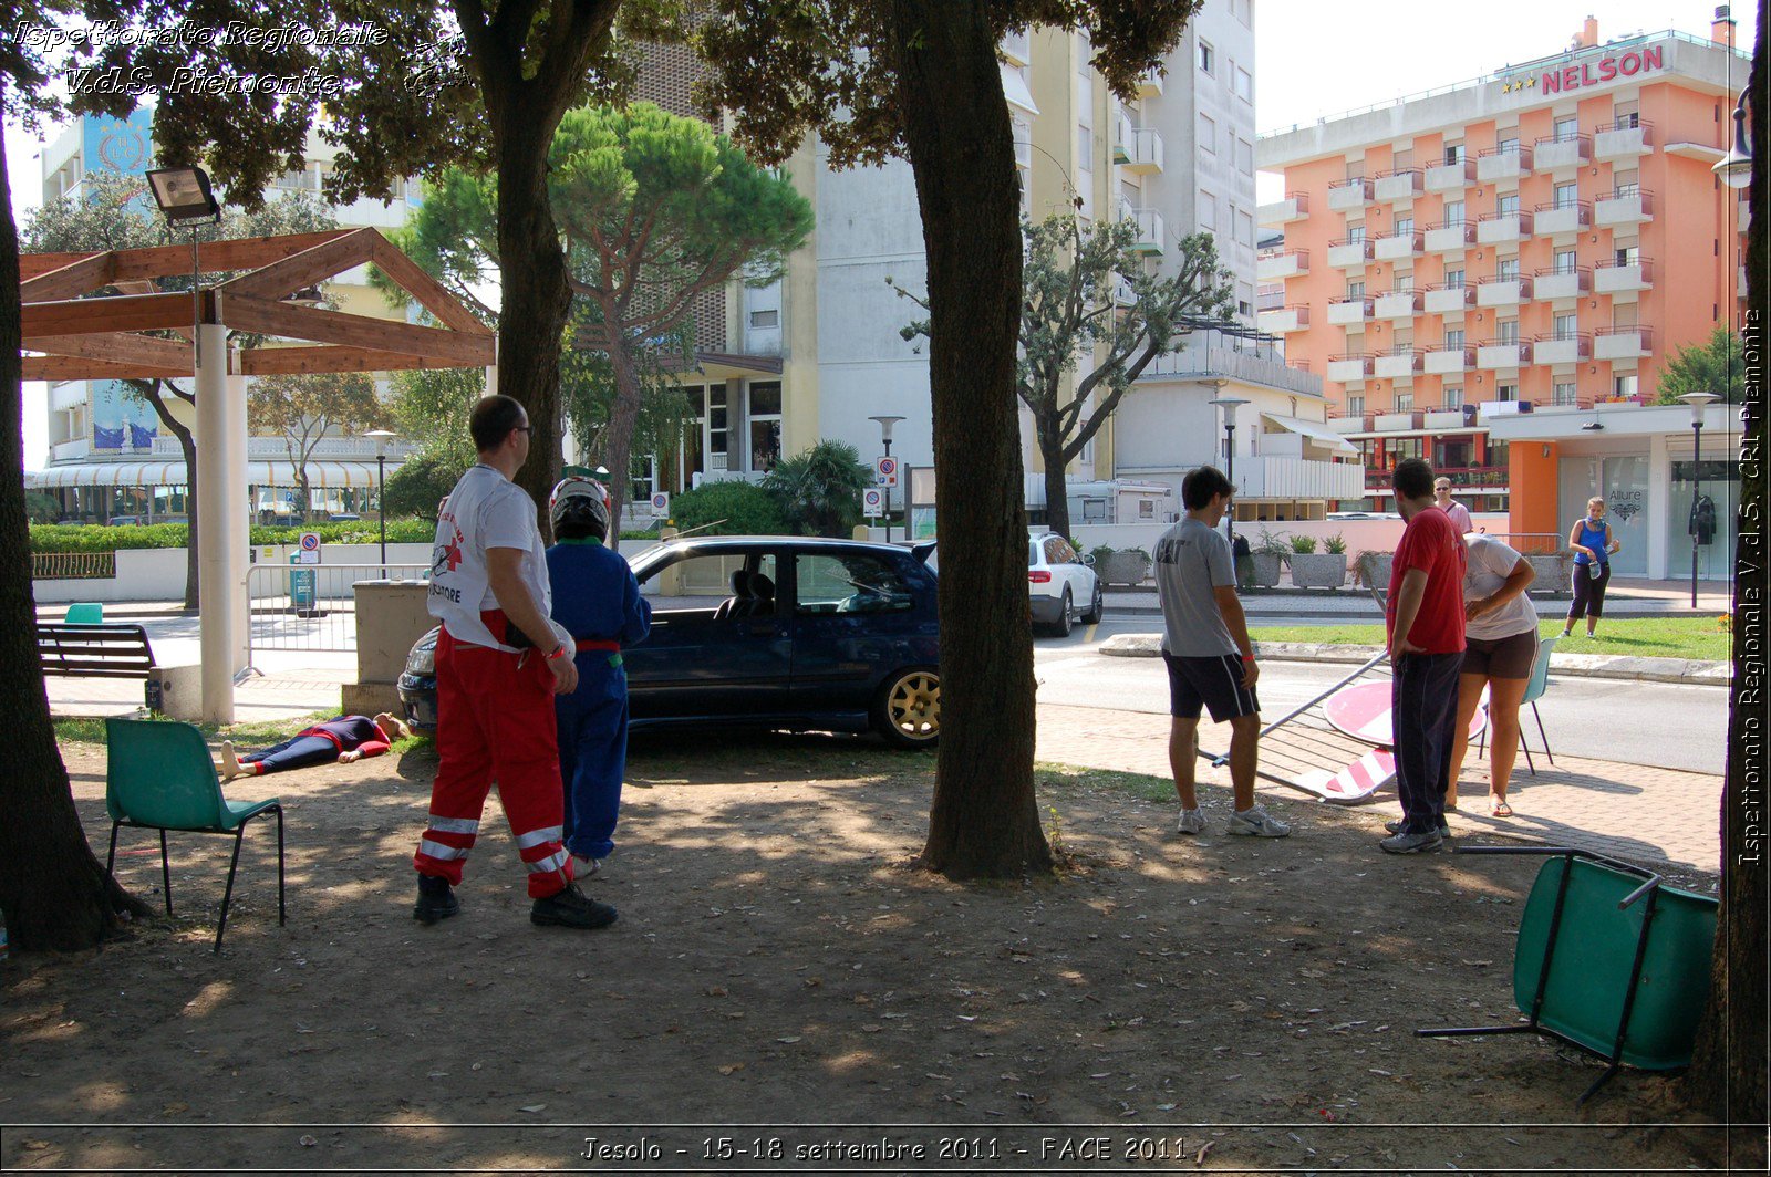
<path fill-rule="evenodd" d="M 418 842 L 418 906 L 436 924 L 460 912 L 453 887 L 498 782 L 517 855 L 530 873 L 530 922 L 606 927 L 616 912 L 572 881 L 561 844 L 563 795 L 556 694 L 577 687 L 574 644 L 549 621 L 553 593 L 535 504 L 512 480 L 530 457 L 530 418 L 510 396 L 485 396 L 468 425 L 480 460 L 437 517 L 430 616 L 437 635 L 437 775 Z"/>

